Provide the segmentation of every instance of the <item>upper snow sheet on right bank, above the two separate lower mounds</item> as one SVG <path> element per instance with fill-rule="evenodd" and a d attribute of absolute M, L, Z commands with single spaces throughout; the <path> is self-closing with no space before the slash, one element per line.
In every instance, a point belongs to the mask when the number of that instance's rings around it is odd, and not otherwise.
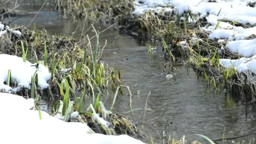
<path fill-rule="evenodd" d="M 173 11 L 174 7 L 174 11 L 179 14 L 190 11 L 192 14 L 200 15 L 200 18 L 207 16 L 206 19 L 212 26 L 204 27 L 203 30 L 212 32 L 210 39 L 244 40 L 253 34 L 256 35 L 255 27 L 248 29 L 233 27 L 223 21 L 256 24 L 256 8 L 248 6 L 249 2 L 251 1 L 216 0 L 216 3 L 211 3 L 208 0 L 135 0 L 135 10 L 132 13 L 138 16 L 148 11 L 161 13 L 161 11 Z M 219 27 L 215 30 L 218 21 L 220 21 Z M 194 21 L 189 19 L 189 22 Z"/>

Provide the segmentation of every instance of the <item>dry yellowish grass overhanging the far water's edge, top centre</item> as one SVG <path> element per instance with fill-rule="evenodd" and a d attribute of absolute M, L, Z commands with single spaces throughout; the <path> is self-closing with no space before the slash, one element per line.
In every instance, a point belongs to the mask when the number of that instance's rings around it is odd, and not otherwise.
<path fill-rule="evenodd" d="M 101 22 L 105 24 L 116 23 L 123 14 L 133 11 L 133 0 L 54 0 L 54 3 L 56 9 L 67 16 L 89 21 L 103 18 Z"/>

